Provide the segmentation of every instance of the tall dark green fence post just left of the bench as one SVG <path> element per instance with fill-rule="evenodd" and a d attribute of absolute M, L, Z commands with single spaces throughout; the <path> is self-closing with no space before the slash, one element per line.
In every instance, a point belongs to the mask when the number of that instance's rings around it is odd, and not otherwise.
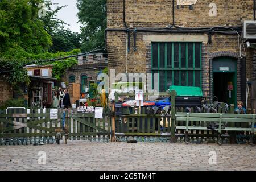
<path fill-rule="evenodd" d="M 171 91 L 171 139 L 170 142 L 175 143 L 176 137 L 175 137 L 175 97 L 177 96 L 177 93 L 175 90 Z"/>

